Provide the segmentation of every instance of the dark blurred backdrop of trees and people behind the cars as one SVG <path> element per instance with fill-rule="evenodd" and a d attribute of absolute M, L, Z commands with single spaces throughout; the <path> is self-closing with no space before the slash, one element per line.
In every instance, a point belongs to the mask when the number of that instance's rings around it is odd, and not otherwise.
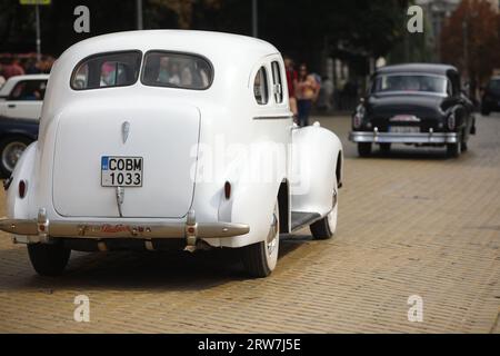
<path fill-rule="evenodd" d="M 499 0 L 41 0 L 38 7 L 27 2 L 36 1 L 0 0 L 3 79 L 21 70 L 50 72 L 69 46 L 134 29 L 214 30 L 270 41 L 319 78 L 318 112 L 352 110 L 370 73 L 389 63 L 454 65 L 477 99 L 488 79 L 500 73 Z M 73 11 L 81 4 L 90 10 L 90 33 L 73 31 Z M 412 4 L 423 9 L 423 33 L 407 30 Z"/>

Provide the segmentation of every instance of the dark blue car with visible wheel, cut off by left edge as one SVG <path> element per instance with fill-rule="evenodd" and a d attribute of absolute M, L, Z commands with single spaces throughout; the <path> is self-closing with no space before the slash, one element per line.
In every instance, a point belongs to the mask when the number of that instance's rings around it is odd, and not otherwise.
<path fill-rule="evenodd" d="M 0 175 L 8 178 L 27 147 L 38 138 L 39 120 L 0 117 Z"/>

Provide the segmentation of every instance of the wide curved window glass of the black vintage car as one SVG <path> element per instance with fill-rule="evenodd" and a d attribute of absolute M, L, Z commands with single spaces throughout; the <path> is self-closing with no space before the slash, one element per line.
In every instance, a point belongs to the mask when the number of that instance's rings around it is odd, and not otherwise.
<path fill-rule="evenodd" d="M 379 75 L 372 85 L 373 93 L 404 91 L 446 95 L 450 90 L 448 78 L 430 75 Z"/>

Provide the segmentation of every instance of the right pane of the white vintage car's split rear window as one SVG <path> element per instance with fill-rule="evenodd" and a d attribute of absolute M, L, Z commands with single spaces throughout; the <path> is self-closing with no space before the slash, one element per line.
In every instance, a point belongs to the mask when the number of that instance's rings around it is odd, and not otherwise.
<path fill-rule="evenodd" d="M 212 66 L 200 56 L 166 51 L 144 56 L 141 78 L 144 86 L 204 90 L 212 80 Z"/>

